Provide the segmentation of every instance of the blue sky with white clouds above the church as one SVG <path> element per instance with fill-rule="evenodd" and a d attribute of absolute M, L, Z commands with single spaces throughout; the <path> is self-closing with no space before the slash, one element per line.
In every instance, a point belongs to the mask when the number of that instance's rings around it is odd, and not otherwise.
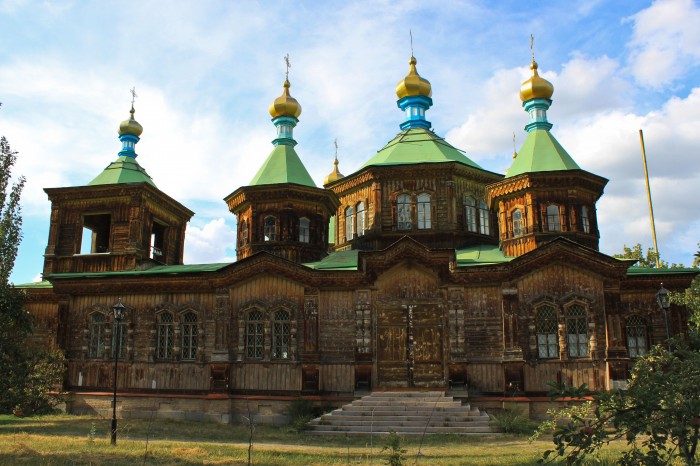
<path fill-rule="evenodd" d="M 398 131 L 394 86 L 409 29 L 430 80 L 435 131 L 502 173 L 524 140 L 518 98 L 529 37 L 554 84 L 553 134 L 610 180 L 601 250 L 651 246 L 638 130 L 645 134 L 662 258 L 692 263 L 700 241 L 700 5 L 692 0 L 24 1 L 0 0 L 0 134 L 19 152 L 24 241 L 12 279 L 37 279 L 50 204 L 43 188 L 87 184 L 120 149 L 136 87 L 139 163 L 196 212 L 187 263 L 235 257 L 223 198 L 247 184 L 274 138 L 267 107 L 289 53 L 303 107 L 297 152 L 318 185 L 352 173 Z"/>

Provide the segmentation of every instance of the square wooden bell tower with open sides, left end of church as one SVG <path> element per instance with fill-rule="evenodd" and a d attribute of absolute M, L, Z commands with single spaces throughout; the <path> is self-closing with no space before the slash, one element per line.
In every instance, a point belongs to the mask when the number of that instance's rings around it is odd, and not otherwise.
<path fill-rule="evenodd" d="M 158 189 L 136 161 L 143 127 L 133 103 L 119 125 L 117 160 L 86 186 L 44 189 L 51 201 L 44 276 L 182 264 L 194 213 Z"/>

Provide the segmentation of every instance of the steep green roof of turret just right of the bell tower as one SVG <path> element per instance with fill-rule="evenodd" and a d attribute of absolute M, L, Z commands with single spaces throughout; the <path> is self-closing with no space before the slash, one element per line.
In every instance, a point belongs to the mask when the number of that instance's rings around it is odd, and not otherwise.
<path fill-rule="evenodd" d="M 278 183 L 296 183 L 312 188 L 316 187 L 292 145 L 279 144 L 275 146 L 258 173 L 253 177 L 250 186 Z"/>

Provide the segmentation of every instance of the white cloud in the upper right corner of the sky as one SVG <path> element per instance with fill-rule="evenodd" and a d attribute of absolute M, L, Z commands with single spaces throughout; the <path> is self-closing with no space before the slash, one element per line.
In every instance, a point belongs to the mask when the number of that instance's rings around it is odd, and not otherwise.
<path fill-rule="evenodd" d="M 642 85 L 668 85 L 700 63 L 700 8 L 693 0 L 658 0 L 631 20 L 630 67 Z"/>

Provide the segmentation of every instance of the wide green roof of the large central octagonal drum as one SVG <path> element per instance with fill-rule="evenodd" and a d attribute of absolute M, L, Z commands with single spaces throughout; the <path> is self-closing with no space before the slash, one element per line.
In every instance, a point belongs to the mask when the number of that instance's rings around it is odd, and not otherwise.
<path fill-rule="evenodd" d="M 481 168 L 464 152 L 424 128 L 409 128 L 396 135 L 362 168 L 372 165 L 403 165 L 412 163 L 459 162 Z"/>

